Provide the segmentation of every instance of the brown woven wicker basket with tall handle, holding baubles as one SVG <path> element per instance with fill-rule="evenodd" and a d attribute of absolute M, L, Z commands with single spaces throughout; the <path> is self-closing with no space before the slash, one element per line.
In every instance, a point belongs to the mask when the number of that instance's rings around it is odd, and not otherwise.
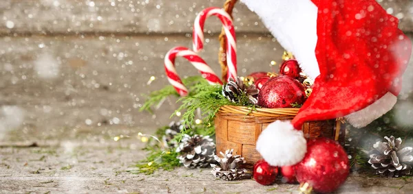
<path fill-rule="evenodd" d="M 224 10 L 230 15 L 237 0 L 227 0 Z M 222 69 L 222 80 L 226 81 L 227 66 L 225 61 L 225 33 L 220 34 L 219 62 Z M 234 149 L 235 154 L 246 159 L 246 166 L 251 167 L 260 154 L 255 150 L 255 142 L 262 130 L 276 120 L 290 120 L 295 117 L 299 108 L 257 108 L 250 110 L 243 106 L 223 106 L 215 116 L 215 132 L 217 154 L 226 149 Z M 314 121 L 304 123 L 303 132 L 306 138 L 324 136 L 343 144 L 345 125 L 341 119 Z"/>

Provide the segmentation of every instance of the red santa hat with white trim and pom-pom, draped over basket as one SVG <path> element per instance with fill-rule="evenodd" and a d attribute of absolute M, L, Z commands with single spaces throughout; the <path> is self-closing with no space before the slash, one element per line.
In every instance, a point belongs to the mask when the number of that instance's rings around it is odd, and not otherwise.
<path fill-rule="evenodd" d="M 306 154 L 306 121 L 346 117 L 363 127 L 396 104 L 412 45 L 399 21 L 374 0 L 242 0 L 315 79 L 292 121 L 275 121 L 257 140 L 271 165 Z"/>

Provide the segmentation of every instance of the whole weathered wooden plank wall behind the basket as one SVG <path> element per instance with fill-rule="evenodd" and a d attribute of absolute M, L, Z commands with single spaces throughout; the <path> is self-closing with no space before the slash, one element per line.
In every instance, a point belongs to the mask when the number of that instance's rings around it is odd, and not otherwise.
<path fill-rule="evenodd" d="M 152 90 L 167 84 L 163 58 L 172 47 L 191 47 L 193 19 L 220 0 L 2 0 L 0 3 L 0 105 L 23 110 L 23 132 L 121 125 L 154 130 L 169 123 L 176 99 L 155 114 L 138 112 Z M 381 0 L 413 33 L 411 0 Z M 240 75 L 270 71 L 284 49 L 260 19 L 237 4 L 234 20 Z M 202 57 L 219 71 L 218 19 L 205 25 Z M 197 75 L 177 62 L 180 75 Z M 50 68 L 53 70 L 49 72 Z M 412 93 L 412 63 L 401 98 Z M 156 80 L 148 84 L 149 77 Z M 1 114 L 1 113 L 0 113 Z M 3 112 L 3 114 L 6 114 Z M 0 115 L 1 116 L 1 115 Z M 0 128 L 1 130 L 1 128 Z"/>

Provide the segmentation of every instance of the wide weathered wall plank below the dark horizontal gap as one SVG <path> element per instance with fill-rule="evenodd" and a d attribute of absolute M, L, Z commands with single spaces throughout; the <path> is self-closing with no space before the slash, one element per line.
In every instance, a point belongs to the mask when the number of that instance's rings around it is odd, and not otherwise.
<path fill-rule="evenodd" d="M 209 43 L 202 57 L 220 73 L 218 40 Z M 78 38 L 0 38 L 0 105 L 26 110 L 25 125 L 36 128 L 72 128 L 120 123 L 131 126 L 165 125 L 177 108 L 168 99 L 156 116 L 138 112 L 142 93 L 167 85 L 163 56 L 172 47 L 191 46 L 185 36 L 87 36 Z M 283 49 L 268 36 L 246 36 L 238 40 L 240 75 L 270 71 L 271 60 L 281 60 Z M 198 75 L 181 58 L 182 76 Z M 52 70 L 52 73 L 48 70 Z M 152 84 L 147 84 L 151 76 Z M 49 78 L 48 78 L 49 77 Z"/>

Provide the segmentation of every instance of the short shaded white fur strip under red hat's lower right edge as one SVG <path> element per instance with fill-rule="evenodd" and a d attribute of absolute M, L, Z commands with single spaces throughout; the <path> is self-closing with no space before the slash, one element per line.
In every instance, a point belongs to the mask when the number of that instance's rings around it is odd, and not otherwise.
<path fill-rule="evenodd" d="M 348 114 L 345 118 L 348 123 L 355 128 L 363 128 L 370 124 L 372 121 L 379 119 L 389 110 L 392 110 L 394 104 L 396 104 L 397 97 L 392 93 L 386 93 L 383 97 L 374 101 L 370 106 L 363 108 L 352 114 Z"/>

